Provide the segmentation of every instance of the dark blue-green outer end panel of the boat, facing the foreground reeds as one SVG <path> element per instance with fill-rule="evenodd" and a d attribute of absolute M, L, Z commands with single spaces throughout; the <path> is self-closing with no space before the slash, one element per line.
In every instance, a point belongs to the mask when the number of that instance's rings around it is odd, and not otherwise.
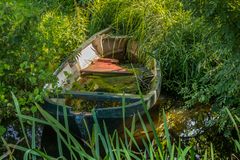
<path fill-rule="evenodd" d="M 62 124 L 64 124 L 64 116 L 67 116 L 69 129 L 74 136 L 86 139 L 88 137 L 87 129 L 91 133 L 93 124 L 95 123 L 93 118 L 94 115 L 98 121 L 98 124 L 100 125 L 100 128 L 103 128 L 104 122 L 109 133 L 112 133 L 114 130 L 122 128 L 123 118 L 125 118 L 126 124 L 131 124 L 131 120 L 134 115 L 136 118 L 138 118 L 138 114 L 145 114 L 144 107 L 146 107 L 146 110 L 148 110 L 151 107 L 147 106 L 153 106 L 155 101 L 154 97 L 149 97 L 145 100 L 137 100 L 134 98 L 124 99 L 126 102 L 133 103 L 123 107 L 95 109 L 91 114 L 84 112 L 74 113 L 71 111 L 71 108 L 67 108 L 67 115 L 64 115 L 63 107 L 66 106 L 56 105 L 47 98 L 45 99 L 43 108 L 55 118 L 59 119 Z"/>

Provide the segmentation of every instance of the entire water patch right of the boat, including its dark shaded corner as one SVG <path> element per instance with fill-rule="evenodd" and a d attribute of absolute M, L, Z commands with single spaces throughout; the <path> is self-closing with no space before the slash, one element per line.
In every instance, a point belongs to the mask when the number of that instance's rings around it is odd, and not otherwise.
<path fill-rule="evenodd" d="M 184 146 L 194 146 L 199 155 L 204 155 L 205 150 L 214 146 L 216 157 L 229 157 L 233 148 L 229 140 L 218 132 L 213 124 L 214 116 L 208 105 L 196 105 L 192 109 L 184 109 L 181 101 L 168 97 L 160 97 L 159 102 L 150 110 L 160 140 L 164 143 L 163 109 L 166 113 L 167 124 L 171 141 Z M 144 117 L 148 135 L 153 138 L 153 132 L 147 118 Z M 140 122 L 136 124 L 135 138 L 138 143 L 146 138 Z M 143 146 L 144 147 L 144 146 Z"/>

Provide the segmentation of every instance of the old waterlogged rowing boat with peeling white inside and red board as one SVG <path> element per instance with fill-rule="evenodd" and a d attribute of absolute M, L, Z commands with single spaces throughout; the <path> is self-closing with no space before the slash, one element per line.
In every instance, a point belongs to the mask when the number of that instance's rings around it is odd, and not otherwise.
<path fill-rule="evenodd" d="M 138 113 L 143 115 L 145 113 L 144 107 L 147 110 L 150 109 L 160 94 L 161 72 L 159 63 L 151 56 L 140 57 L 139 55 L 137 42 L 130 37 L 114 36 L 111 34 L 111 28 L 96 33 L 67 57 L 54 72 L 58 83 L 55 86 L 53 84 L 45 85 L 45 90 L 50 91 L 51 94 L 45 98 L 43 108 L 57 117 L 62 124 L 64 124 L 64 111 L 66 111 L 65 115 L 67 113 L 70 131 L 79 138 L 87 137 L 86 126 L 91 131 L 94 123 L 93 115 L 100 125 L 103 124 L 103 121 L 105 122 L 109 132 L 118 129 L 122 126 L 123 117 L 127 122 Z M 86 75 L 100 75 L 103 77 L 111 76 L 114 79 L 113 89 L 123 83 L 119 77 L 133 76 L 135 77 L 134 83 L 137 84 L 135 89 L 141 90 L 141 82 L 138 79 L 145 73 L 141 73 L 140 70 L 137 74 L 134 68 L 131 72 L 118 65 L 124 62 L 131 63 L 132 66 L 144 64 L 148 69 L 150 78 L 148 77 L 148 90 L 145 93 L 142 92 L 140 95 L 139 92 L 116 93 L 98 89 L 89 91 L 72 88 L 76 82 L 81 87 L 81 79 L 84 79 Z M 130 84 L 126 84 L 126 87 L 128 85 Z M 88 105 L 93 105 L 93 108 L 91 111 L 76 111 L 74 105 L 77 104 L 67 102 L 69 99 L 84 101 L 85 108 Z"/>

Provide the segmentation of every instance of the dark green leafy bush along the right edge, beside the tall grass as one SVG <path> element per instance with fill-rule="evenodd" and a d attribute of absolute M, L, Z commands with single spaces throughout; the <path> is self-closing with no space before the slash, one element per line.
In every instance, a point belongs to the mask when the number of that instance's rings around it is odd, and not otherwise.
<path fill-rule="evenodd" d="M 184 1 L 184 4 L 195 17 L 204 17 L 205 23 L 219 38 L 211 46 L 213 56 L 208 60 L 214 65 L 196 79 L 192 86 L 182 89 L 182 93 L 189 106 L 197 102 L 212 104 L 212 110 L 219 114 L 216 121 L 219 129 L 230 136 L 233 128 L 224 107 L 240 115 L 240 1 L 194 0 L 192 3 Z"/>

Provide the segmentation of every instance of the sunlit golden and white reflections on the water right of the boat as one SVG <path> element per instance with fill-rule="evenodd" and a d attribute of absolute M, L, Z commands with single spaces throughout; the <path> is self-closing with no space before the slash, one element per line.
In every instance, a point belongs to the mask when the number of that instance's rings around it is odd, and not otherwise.
<path fill-rule="evenodd" d="M 212 119 L 210 106 L 196 106 L 193 109 L 182 108 L 181 101 L 161 97 L 158 103 L 150 110 L 151 118 L 160 138 L 164 137 L 163 110 L 166 112 L 167 124 L 172 138 L 191 138 L 203 134 L 208 129 Z M 146 117 L 143 117 L 148 134 L 153 137 L 153 132 Z M 140 122 L 136 124 L 135 137 L 139 141 L 145 136 Z"/>

